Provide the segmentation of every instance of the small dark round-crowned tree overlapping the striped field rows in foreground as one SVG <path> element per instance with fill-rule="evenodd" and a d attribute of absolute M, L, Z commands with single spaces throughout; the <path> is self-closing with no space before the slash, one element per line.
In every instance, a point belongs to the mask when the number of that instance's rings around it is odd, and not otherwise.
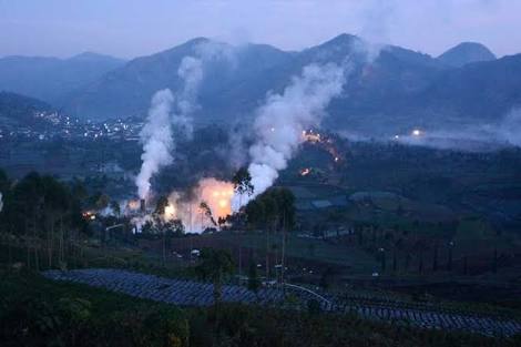
<path fill-rule="evenodd" d="M 233 274 L 234 262 L 228 251 L 204 248 L 201 252 L 201 263 L 196 273 L 203 279 L 212 280 L 214 285 L 214 305 L 218 306 L 223 296 L 223 280 Z"/>

